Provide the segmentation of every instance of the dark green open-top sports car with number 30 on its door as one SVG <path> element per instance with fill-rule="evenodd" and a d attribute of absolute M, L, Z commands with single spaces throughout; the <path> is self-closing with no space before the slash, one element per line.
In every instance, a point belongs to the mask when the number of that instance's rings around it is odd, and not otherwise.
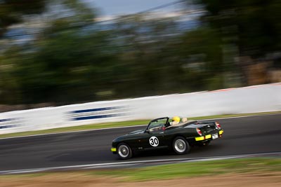
<path fill-rule="evenodd" d="M 117 137 L 112 141 L 111 151 L 123 160 L 140 151 L 162 148 L 183 155 L 190 151 L 190 146 L 206 146 L 222 134 L 223 129 L 217 121 L 163 117 L 151 120 L 143 130 Z"/>

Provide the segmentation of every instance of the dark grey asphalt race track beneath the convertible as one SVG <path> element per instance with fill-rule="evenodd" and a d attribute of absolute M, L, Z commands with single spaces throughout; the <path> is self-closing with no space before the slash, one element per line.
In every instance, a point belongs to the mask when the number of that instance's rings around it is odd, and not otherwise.
<path fill-rule="evenodd" d="M 225 133 L 223 138 L 211 141 L 209 146 L 194 147 L 187 155 L 167 151 L 143 153 L 130 161 L 281 151 L 281 114 L 218 121 Z M 111 141 L 140 128 L 143 127 L 0 139 L 0 171 L 124 162 L 110 152 Z"/>

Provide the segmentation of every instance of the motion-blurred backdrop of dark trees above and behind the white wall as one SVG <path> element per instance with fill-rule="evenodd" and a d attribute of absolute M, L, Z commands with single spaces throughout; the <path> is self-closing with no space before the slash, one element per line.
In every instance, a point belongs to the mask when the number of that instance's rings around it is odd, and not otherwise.
<path fill-rule="evenodd" d="M 0 112 L 281 81 L 280 0 L 157 2 L 0 0 Z"/>

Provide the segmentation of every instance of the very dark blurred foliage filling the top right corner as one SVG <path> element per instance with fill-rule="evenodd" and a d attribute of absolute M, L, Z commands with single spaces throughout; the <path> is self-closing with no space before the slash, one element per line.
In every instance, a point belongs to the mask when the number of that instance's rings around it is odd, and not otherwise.
<path fill-rule="evenodd" d="M 234 40 L 241 56 L 264 57 L 281 49 L 280 0 L 196 0 L 204 4 L 211 27 Z"/>

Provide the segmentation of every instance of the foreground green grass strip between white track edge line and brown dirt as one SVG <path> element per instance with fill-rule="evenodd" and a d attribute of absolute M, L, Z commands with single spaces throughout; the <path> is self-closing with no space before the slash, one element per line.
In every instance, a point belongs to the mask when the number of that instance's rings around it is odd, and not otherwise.
<path fill-rule="evenodd" d="M 213 176 L 230 173 L 266 173 L 270 175 L 281 172 L 281 158 L 239 158 L 229 160 L 214 160 L 203 162 L 185 162 L 178 164 L 159 165 L 131 169 L 98 169 L 76 172 L 39 172 L 35 174 L 9 174 L 0 176 L 0 179 L 18 179 L 20 177 L 40 177 L 63 174 L 80 174 L 81 176 L 105 176 L 119 181 L 152 181 L 181 179 L 195 176 Z"/>

